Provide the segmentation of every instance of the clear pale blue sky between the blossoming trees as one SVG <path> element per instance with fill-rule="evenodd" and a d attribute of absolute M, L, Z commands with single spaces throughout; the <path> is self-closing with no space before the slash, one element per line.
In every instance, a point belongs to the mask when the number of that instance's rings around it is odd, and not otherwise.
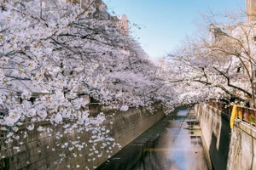
<path fill-rule="evenodd" d="M 141 29 L 135 36 L 152 59 L 164 57 L 196 31 L 200 13 L 244 8 L 246 0 L 103 0 L 108 11 L 126 14 Z M 111 14 L 111 13 L 110 13 Z M 113 14 L 114 15 L 114 14 Z"/>

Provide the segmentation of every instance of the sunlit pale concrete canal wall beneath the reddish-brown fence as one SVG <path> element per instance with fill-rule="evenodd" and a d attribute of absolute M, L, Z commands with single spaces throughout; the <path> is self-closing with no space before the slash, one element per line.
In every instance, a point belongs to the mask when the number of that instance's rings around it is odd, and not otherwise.
<path fill-rule="evenodd" d="M 195 112 L 213 169 L 256 169 L 255 127 L 236 119 L 230 129 L 230 115 L 207 104 L 195 105 Z"/>

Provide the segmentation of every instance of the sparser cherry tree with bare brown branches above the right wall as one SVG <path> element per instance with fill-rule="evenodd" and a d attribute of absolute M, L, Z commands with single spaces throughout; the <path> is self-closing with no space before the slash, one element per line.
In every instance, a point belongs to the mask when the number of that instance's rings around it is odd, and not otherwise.
<path fill-rule="evenodd" d="M 169 54 L 172 68 L 183 74 L 171 73 L 172 77 L 190 89 L 193 99 L 252 99 L 254 105 L 255 22 L 244 22 L 244 18 L 243 11 L 203 15 L 204 25 L 195 37 Z"/>

